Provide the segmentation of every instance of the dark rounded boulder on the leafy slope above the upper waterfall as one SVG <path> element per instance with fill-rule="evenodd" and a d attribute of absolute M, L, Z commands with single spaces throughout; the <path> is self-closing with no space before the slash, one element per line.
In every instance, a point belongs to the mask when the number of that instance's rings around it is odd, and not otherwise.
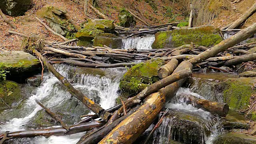
<path fill-rule="evenodd" d="M 118 19 L 120 22 L 120 26 L 122 26 L 122 27 L 129 28 L 131 26 L 136 25 L 136 21 L 135 21 L 134 17 L 125 8 L 121 8 L 119 15 L 118 15 Z"/>

